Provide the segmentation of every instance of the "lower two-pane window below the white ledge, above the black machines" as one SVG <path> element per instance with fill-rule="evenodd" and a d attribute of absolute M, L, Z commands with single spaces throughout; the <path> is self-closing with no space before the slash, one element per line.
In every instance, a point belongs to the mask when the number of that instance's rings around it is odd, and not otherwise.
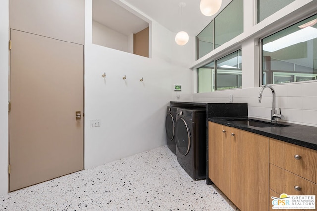
<path fill-rule="evenodd" d="M 242 53 L 238 50 L 198 68 L 198 93 L 242 86 Z"/>

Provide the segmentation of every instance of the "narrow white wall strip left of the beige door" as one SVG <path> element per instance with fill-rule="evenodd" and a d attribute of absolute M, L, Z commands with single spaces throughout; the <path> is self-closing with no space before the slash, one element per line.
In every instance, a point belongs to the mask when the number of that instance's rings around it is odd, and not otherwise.
<path fill-rule="evenodd" d="M 0 6 L 0 195 L 8 191 L 9 0 Z"/>

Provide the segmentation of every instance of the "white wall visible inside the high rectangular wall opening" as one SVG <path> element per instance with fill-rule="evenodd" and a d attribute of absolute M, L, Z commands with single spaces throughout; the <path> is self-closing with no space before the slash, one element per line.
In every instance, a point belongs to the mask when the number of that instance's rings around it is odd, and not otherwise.
<path fill-rule="evenodd" d="M 94 44 L 133 53 L 133 47 L 132 51 L 129 50 L 131 48 L 129 46 L 128 36 L 116 32 L 96 21 L 93 21 L 92 31 L 92 42 Z"/>

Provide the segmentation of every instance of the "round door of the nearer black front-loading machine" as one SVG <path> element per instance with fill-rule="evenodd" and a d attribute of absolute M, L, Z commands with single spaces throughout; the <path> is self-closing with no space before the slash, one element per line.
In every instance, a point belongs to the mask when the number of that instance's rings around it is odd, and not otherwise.
<path fill-rule="evenodd" d="M 181 155 L 185 156 L 190 149 L 191 135 L 189 127 L 183 118 L 177 119 L 175 131 L 177 149 Z"/>

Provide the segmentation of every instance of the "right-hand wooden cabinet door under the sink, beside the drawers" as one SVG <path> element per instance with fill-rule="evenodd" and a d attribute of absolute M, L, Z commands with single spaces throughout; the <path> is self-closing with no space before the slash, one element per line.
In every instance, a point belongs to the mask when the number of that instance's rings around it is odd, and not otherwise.
<path fill-rule="evenodd" d="M 268 138 L 230 128 L 230 199 L 243 211 L 267 211 Z"/>

